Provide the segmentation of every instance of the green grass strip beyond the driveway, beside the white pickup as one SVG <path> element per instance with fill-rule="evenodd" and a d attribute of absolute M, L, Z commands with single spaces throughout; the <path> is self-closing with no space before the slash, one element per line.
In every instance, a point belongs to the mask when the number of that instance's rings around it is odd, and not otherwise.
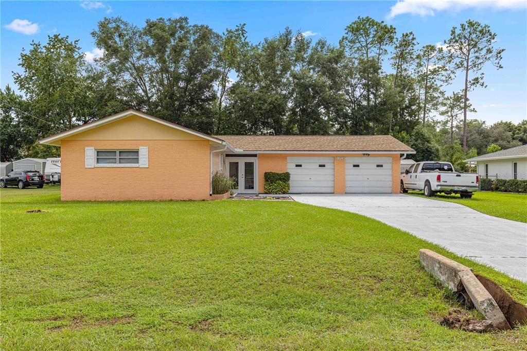
<path fill-rule="evenodd" d="M 408 191 L 408 194 L 425 197 L 422 191 Z M 527 223 L 527 194 L 477 191 L 472 199 L 461 199 L 455 194 L 437 194 L 431 199 L 456 202 L 491 216 Z"/>

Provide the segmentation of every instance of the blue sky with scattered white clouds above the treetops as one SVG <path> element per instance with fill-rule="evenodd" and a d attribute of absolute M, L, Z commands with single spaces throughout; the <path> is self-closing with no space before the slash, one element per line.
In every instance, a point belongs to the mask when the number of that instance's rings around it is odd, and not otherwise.
<path fill-rule="evenodd" d="M 397 33 L 413 31 L 420 44 L 443 42 L 453 26 L 475 19 L 497 33 L 497 45 L 505 48 L 496 71 L 486 67 L 486 89 L 470 93 L 477 110 L 471 118 L 491 124 L 500 120 L 527 119 L 527 10 L 525 2 L 510 0 L 428 2 L 426 0 L 348 2 L 174 2 L 174 1 L 2 1 L 0 86 L 13 84 L 22 48 L 31 41 L 45 42 L 60 33 L 79 39 L 87 56 L 97 55 L 90 32 L 104 16 L 121 16 L 142 26 L 147 18 L 187 16 L 191 23 L 208 24 L 217 32 L 239 23 L 247 24 L 248 38 L 259 42 L 284 30 L 312 32 L 338 43 L 344 28 L 357 16 L 384 20 Z M 447 91 L 458 91 L 457 79 Z"/>

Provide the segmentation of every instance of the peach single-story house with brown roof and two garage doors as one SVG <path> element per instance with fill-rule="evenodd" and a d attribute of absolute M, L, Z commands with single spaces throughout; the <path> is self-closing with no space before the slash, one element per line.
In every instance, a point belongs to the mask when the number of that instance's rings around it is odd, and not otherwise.
<path fill-rule="evenodd" d="M 291 193 L 399 192 L 389 135 L 207 135 L 126 110 L 40 140 L 61 147 L 63 200 L 206 200 L 222 171 L 238 193 L 263 193 L 265 172 L 290 172 Z"/>

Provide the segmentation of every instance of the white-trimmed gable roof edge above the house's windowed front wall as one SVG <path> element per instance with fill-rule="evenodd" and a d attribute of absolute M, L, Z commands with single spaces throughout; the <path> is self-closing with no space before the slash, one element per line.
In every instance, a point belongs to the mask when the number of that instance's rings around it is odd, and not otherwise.
<path fill-rule="evenodd" d="M 83 124 L 83 125 L 76 126 L 75 128 L 66 130 L 64 132 L 50 135 L 49 137 L 41 139 L 38 142 L 40 142 L 41 144 L 57 145 L 58 141 L 60 141 L 61 139 L 64 139 L 66 137 L 70 137 L 71 135 L 75 135 L 77 133 L 85 132 L 85 131 L 90 130 L 90 129 L 97 128 L 98 126 L 101 126 L 101 125 L 104 125 L 104 124 L 108 124 L 108 123 L 111 123 L 113 121 L 120 120 L 120 119 L 129 117 L 129 116 L 132 116 L 132 115 L 140 116 L 142 118 L 145 118 L 145 119 L 148 119 L 148 120 L 151 120 L 151 121 L 154 121 L 154 122 L 158 122 L 158 123 L 167 125 L 167 126 L 169 126 L 171 128 L 178 129 L 178 130 L 190 133 L 190 134 L 198 135 L 198 137 L 202 137 L 204 139 L 208 139 L 208 140 L 211 140 L 211 141 L 222 143 L 222 140 L 219 140 L 217 138 L 211 137 L 208 134 L 198 132 L 196 130 L 184 127 L 184 126 L 179 125 L 179 124 L 175 124 L 175 123 L 172 123 L 172 122 L 169 122 L 169 121 L 165 121 L 163 119 L 151 116 L 149 114 L 146 114 L 146 113 L 143 113 L 143 112 L 140 112 L 140 111 L 136 111 L 134 109 L 129 109 L 129 110 L 126 110 L 126 111 L 123 111 L 123 112 L 112 114 L 111 116 L 108 116 L 108 117 L 105 117 L 105 118 L 101 118 L 100 120 L 96 120 L 96 121 L 93 121 L 93 122 L 90 122 L 90 123 L 86 123 L 86 124 Z"/>

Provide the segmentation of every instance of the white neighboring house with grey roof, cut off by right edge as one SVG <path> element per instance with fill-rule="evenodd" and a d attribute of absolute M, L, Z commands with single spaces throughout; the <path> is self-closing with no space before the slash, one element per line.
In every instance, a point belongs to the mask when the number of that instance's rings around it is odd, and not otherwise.
<path fill-rule="evenodd" d="M 477 174 L 492 179 L 527 179 L 527 145 L 465 160 L 477 165 Z"/>

